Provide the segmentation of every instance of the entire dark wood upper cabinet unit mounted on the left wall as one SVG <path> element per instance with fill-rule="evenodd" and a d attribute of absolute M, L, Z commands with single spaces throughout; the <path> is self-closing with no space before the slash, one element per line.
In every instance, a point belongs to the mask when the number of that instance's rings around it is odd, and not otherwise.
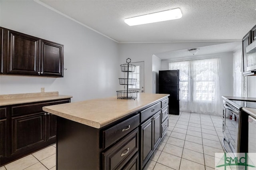
<path fill-rule="evenodd" d="M 0 74 L 63 77 L 64 45 L 0 27 Z"/>

